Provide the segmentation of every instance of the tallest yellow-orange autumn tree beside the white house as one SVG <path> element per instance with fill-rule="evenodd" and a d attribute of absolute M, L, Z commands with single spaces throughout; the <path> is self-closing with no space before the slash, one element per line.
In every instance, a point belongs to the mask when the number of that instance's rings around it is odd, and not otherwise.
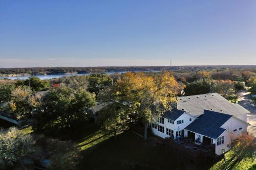
<path fill-rule="evenodd" d="M 147 124 L 172 108 L 171 104 L 176 102 L 178 88 L 179 84 L 170 72 L 163 72 L 156 77 L 147 76 L 143 72 L 126 72 L 115 85 L 99 97 L 103 96 L 102 99 L 118 102 L 122 116 L 123 113 L 126 115 L 136 113 L 144 123 L 144 139 L 146 139 Z M 117 115 L 120 114 L 120 109 L 115 112 Z"/>

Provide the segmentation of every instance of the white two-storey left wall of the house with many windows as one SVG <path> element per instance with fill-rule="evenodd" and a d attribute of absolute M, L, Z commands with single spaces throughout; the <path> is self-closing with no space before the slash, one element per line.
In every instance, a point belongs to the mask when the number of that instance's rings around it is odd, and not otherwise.
<path fill-rule="evenodd" d="M 189 118 L 191 118 L 191 121 L 189 121 Z M 195 117 L 187 113 L 183 113 L 179 118 L 174 120 L 174 124 L 171 124 L 171 123 L 168 123 L 167 118 L 164 118 L 164 124 L 160 124 L 159 122 L 156 122 L 156 124 L 164 127 L 164 133 L 158 131 L 158 129 L 155 129 L 153 127 L 152 127 L 152 132 L 154 135 L 157 135 L 161 138 L 166 138 L 166 137 L 170 137 L 169 135 L 166 134 L 166 128 L 168 128 L 174 131 L 174 138 L 176 139 L 176 132 L 184 130 L 184 128 L 187 127 L 189 124 L 191 124 L 195 119 L 196 119 Z M 183 124 L 177 124 L 178 120 L 183 120 Z"/>

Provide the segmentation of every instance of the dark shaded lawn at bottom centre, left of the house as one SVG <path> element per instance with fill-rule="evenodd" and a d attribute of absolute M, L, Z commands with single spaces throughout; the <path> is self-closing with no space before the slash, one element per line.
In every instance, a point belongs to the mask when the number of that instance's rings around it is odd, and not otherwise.
<path fill-rule="evenodd" d="M 96 138 L 99 135 L 95 133 Z M 131 131 L 119 134 L 116 140 L 113 135 L 107 138 L 82 151 L 79 169 L 185 169 L 182 159 L 164 146 L 151 139 L 144 140 Z"/>

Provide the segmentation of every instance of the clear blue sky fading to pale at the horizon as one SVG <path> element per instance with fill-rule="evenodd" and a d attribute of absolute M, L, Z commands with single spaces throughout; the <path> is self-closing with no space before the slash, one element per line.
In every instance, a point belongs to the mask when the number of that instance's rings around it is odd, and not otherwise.
<path fill-rule="evenodd" d="M 0 0 L 0 67 L 256 64 L 256 1 Z"/>

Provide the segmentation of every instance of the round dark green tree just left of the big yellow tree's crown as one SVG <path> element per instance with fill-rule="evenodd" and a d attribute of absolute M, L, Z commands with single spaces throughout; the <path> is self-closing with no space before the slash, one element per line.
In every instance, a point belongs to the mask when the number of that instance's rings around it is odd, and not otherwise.
<path fill-rule="evenodd" d="M 107 88 L 113 84 L 113 80 L 106 74 L 91 74 L 87 77 L 88 90 L 96 95 L 100 90 Z"/>

